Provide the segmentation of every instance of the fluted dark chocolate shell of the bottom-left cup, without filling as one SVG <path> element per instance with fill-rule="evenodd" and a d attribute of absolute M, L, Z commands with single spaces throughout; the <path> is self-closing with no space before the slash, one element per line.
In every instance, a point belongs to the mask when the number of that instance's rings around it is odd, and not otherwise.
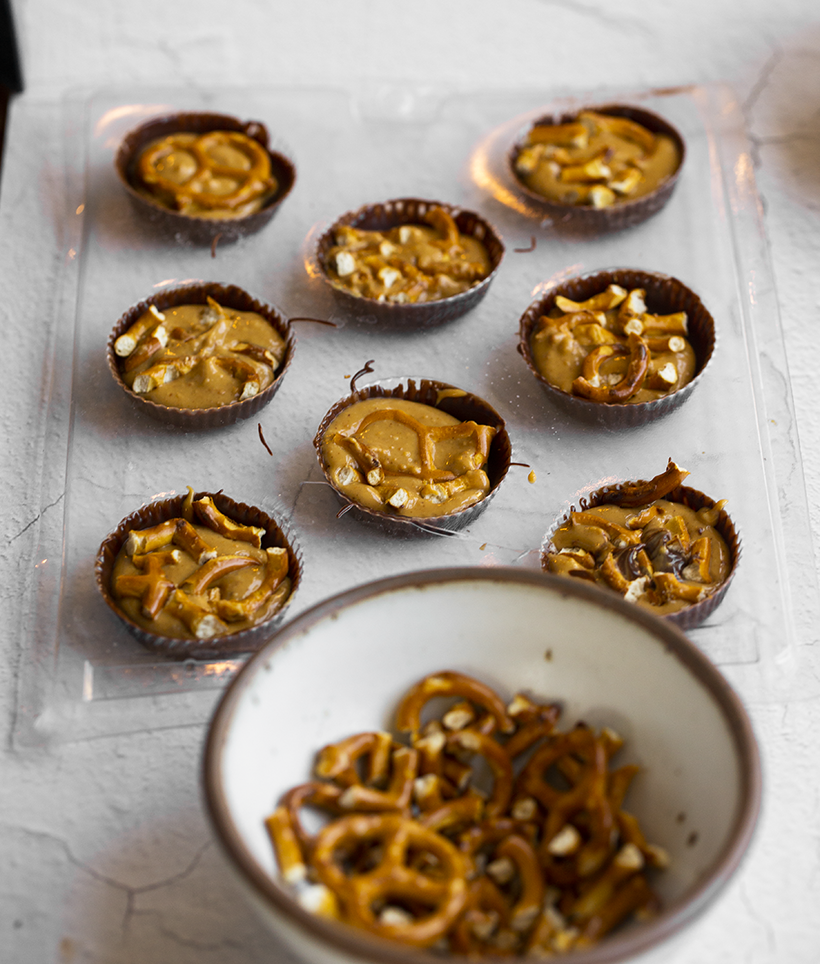
<path fill-rule="evenodd" d="M 182 514 L 182 506 L 188 498 L 185 495 L 177 495 L 172 499 L 163 499 L 159 502 L 150 502 L 132 512 L 120 522 L 117 528 L 108 535 L 102 542 L 97 552 L 94 564 L 94 572 L 97 580 L 97 588 L 100 590 L 103 599 L 108 604 L 112 612 L 125 625 L 126 629 L 132 633 L 147 649 L 156 653 L 162 653 L 174 659 L 212 659 L 239 653 L 250 653 L 259 649 L 275 627 L 284 618 L 285 612 L 293 599 L 294 594 L 299 588 L 302 580 L 302 553 L 293 539 L 289 526 L 277 522 L 273 516 L 269 515 L 256 506 L 246 505 L 244 502 L 235 502 L 220 492 L 196 492 L 195 499 L 201 499 L 209 495 L 214 500 L 214 504 L 229 516 L 234 522 L 242 525 L 259 526 L 266 530 L 266 535 L 262 540 L 262 548 L 280 548 L 288 551 L 288 575 L 291 578 L 291 590 L 282 606 L 265 622 L 248 629 L 240 630 L 237 633 L 230 633 L 226 636 L 217 636 L 213 639 L 192 639 L 189 637 L 162 636 L 159 633 L 151 633 L 143 626 L 133 622 L 120 609 L 117 601 L 111 593 L 111 576 L 114 570 L 114 562 L 117 554 L 128 538 L 128 533 L 132 529 L 147 529 L 157 525 L 165 519 L 172 519 Z"/>

